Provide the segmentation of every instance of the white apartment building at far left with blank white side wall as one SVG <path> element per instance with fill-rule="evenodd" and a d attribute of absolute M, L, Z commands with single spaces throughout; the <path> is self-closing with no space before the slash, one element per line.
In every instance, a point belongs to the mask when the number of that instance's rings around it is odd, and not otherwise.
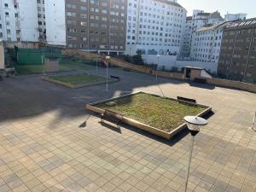
<path fill-rule="evenodd" d="M 1 0 L 0 39 L 66 45 L 65 0 Z"/>

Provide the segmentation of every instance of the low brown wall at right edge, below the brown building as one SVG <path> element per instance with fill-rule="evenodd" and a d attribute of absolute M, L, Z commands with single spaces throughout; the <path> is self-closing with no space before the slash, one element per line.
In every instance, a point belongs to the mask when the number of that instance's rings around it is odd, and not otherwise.
<path fill-rule="evenodd" d="M 214 84 L 214 85 L 219 85 L 227 88 L 234 88 L 238 90 L 247 90 L 249 92 L 256 93 L 256 84 L 247 84 L 240 81 L 207 78 L 207 84 Z"/>

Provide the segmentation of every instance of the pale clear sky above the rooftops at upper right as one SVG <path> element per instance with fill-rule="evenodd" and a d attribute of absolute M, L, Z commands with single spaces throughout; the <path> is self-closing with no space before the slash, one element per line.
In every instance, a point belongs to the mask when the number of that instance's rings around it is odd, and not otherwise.
<path fill-rule="evenodd" d="M 177 0 L 177 3 L 187 9 L 188 16 L 193 9 L 202 9 L 206 12 L 218 10 L 223 17 L 227 12 L 246 13 L 247 19 L 256 17 L 256 0 Z"/>

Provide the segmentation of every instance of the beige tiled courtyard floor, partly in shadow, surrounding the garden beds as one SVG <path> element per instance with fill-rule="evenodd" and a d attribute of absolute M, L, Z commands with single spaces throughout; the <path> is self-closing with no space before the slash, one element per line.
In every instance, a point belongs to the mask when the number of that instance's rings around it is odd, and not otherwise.
<path fill-rule="evenodd" d="M 96 73 L 96 71 L 89 71 Z M 105 69 L 99 73 L 105 74 Z M 40 75 L 0 82 L 0 192 L 184 191 L 190 136 L 171 141 L 98 123 L 86 103 L 144 90 L 195 98 L 214 115 L 195 139 L 189 191 L 256 191 L 256 94 L 111 69 L 121 81 L 71 90 Z M 172 117 L 166 117 L 172 118 Z"/>

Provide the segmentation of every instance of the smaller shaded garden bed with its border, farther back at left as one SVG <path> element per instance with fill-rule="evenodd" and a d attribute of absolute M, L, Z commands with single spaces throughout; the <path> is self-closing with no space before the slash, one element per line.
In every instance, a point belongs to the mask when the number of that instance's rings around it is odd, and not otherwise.
<path fill-rule="evenodd" d="M 98 84 L 106 84 L 106 78 L 90 74 L 56 75 L 43 78 L 46 81 L 61 84 L 69 88 L 80 88 Z M 108 79 L 108 83 L 117 82 L 118 79 Z"/>

